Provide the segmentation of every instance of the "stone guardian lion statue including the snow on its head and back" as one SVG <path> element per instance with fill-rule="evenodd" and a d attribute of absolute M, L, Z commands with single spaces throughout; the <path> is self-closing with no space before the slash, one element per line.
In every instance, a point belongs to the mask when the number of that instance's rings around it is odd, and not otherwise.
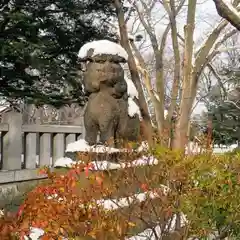
<path fill-rule="evenodd" d="M 86 63 L 83 83 L 89 96 L 85 140 L 95 145 L 100 133 L 100 143 L 110 146 L 119 139 L 137 141 L 140 111 L 134 101 L 138 93 L 132 81 L 124 79 L 121 63 L 128 60 L 126 51 L 117 43 L 99 40 L 83 45 L 78 57 Z"/>

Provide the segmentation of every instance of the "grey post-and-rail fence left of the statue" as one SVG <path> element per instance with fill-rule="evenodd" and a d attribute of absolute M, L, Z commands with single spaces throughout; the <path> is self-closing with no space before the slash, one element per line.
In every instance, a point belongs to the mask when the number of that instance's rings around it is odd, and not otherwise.
<path fill-rule="evenodd" d="M 9 112 L 0 123 L 0 184 L 40 178 L 38 168 L 53 166 L 67 144 L 83 137 L 83 124 L 25 125 L 22 119 L 21 113 Z"/>

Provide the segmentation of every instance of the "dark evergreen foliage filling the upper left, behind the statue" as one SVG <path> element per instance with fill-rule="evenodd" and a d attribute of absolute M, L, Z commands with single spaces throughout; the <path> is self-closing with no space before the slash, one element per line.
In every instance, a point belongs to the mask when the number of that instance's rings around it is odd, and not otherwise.
<path fill-rule="evenodd" d="M 116 39 L 110 0 L 3 0 L 0 97 L 36 105 L 83 103 L 77 52 L 88 41 Z"/>

